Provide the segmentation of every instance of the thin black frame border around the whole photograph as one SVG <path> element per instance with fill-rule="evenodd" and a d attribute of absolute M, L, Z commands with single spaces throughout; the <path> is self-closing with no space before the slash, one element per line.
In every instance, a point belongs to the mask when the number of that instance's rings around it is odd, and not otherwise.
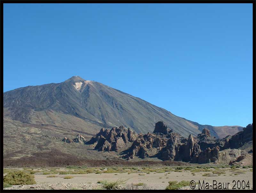
<path fill-rule="evenodd" d="M 256 22 L 256 0 L 1 0 L 0 1 L 0 10 L 1 10 L 1 68 L 0 68 L 0 87 L 1 87 L 1 103 L 0 103 L 0 108 L 1 108 L 1 125 L 0 125 L 0 151 L 1 151 L 1 158 L 0 158 L 0 193 L 1 192 L 95 192 L 95 193 L 101 193 L 101 192 L 218 192 L 218 193 L 222 193 L 222 192 L 233 192 L 233 190 L 4 190 L 3 187 L 3 171 L 4 171 L 4 163 L 3 163 L 3 148 L 4 148 L 4 142 L 3 142 L 3 127 L 4 127 L 4 123 L 3 123 L 3 115 L 4 115 L 4 101 L 3 101 L 3 81 L 4 81 L 4 74 L 3 74 L 3 69 L 4 69 L 4 65 L 3 65 L 3 55 L 4 55 L 4 4 L 12 4 L 12 3 L 47 3 L 47 4 L 51 4 L 51 3 L 72 3 L 72 4 L 76 4 L 76 3 L 181 3 L 181 4 L 198 4 L 198 3 L 205 3 L 205 4 L 229 4 L 229 3 L 239 3 L 239 4 L 252 4 L 252 23 L 253 23 L 253 27 L 252 27 L 252 54 L 253 54 L 253 60 L 252 60 L 252 73 L 253 73 L 253 83 L 252 83 L 252 89 L 253 89 L 253 94 L 252 94 L 252 105 L 253 105 L 253 150 L 256 150 L 256 128 L 255 128 L 255 118 L 256 118 L 256 114 L 255 114 L 255 100 L 256 100 L 256 96 L 255 96 L 255 86 L 256 86 L 256 58 L 255 58 L 255 53 L 256 53 L 256 28 L 255 28 L 255 22 Z M 237 193 L 242 193 L 242 192 L 256 192 L 256 155 L 255 153 L 253 153 L 253 189 L 252 190 L 234 190 Z"/>

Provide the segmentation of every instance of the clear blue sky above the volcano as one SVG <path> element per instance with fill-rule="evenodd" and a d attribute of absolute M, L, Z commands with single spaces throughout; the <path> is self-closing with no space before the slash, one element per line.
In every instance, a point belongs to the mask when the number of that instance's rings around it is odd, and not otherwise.
<path fill-rule="evenodd" d="M 252 123 L 252 4 L 4 4 L 4 92 L 78 75 L 214 126 Z"/>

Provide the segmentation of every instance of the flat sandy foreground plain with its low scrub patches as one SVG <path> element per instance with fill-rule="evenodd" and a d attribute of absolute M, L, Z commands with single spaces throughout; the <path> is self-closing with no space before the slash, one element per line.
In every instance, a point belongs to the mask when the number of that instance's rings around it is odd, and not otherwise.
<path fill-rule="evenodd" d="M 219 189 L 252 189 L 252 166 L 239 167 L 228 165 L 190 164 L 189 166 L 154 166 L 150 167 L 62 167 L 62 168 L 4 168 L 4 175 L 13 171 L 33 173 L 35 184 L 12 185 L 5 189 L 109 189 L 107 184 L 115 183 L 111 189 L 166 189 L 169 182 L 186 181 L 175 189 L 191 189 L 191 180 L 206 182 L 210 185 L 213 180 L 221 183 Z M 233 182 L 242 182 L 243 186 Z M 116 182 L 121 183 L 116 183 Z M 245 183 L 244 183 L 244 182 Z M 105 183 L 107 182 L 107 183 Z M 174 188 L 174 187 L 173 187 Z M 205 186 L 205 189 L 207 187 Z M 213 187 L 209 187 L 213 189 Z"/>

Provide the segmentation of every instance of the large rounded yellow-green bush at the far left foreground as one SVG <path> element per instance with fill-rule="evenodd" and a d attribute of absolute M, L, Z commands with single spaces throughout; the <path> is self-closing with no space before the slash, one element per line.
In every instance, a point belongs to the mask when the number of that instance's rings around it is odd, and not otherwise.
<path fill-rule="evenodd" d="M 35 176 L 24 171 L 10 172 L 4 176 L 4 182 L 10 185 L 35 184 Z"/>

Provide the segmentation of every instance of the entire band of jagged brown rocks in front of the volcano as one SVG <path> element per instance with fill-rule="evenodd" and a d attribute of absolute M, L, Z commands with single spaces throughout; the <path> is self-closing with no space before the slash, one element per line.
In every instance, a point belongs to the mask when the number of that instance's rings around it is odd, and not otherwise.
<path fill-rule="evenodd" d="M 135 157 L 174 160 L 190 163 L 228 163 L 230 165 L 252 165 L 252 124 L 243 131 L 222 139 L 212 137 L 208 129 L 188 138 L 174 133 L 164 122 L 157 122 L 153 133 L 138 134 L 123 126 L 104 130 L 86 144 L 102 152 L 118 152 L 128 142 L 131 147 L 120 152 L 120 157 L 131 160 Z"/>

